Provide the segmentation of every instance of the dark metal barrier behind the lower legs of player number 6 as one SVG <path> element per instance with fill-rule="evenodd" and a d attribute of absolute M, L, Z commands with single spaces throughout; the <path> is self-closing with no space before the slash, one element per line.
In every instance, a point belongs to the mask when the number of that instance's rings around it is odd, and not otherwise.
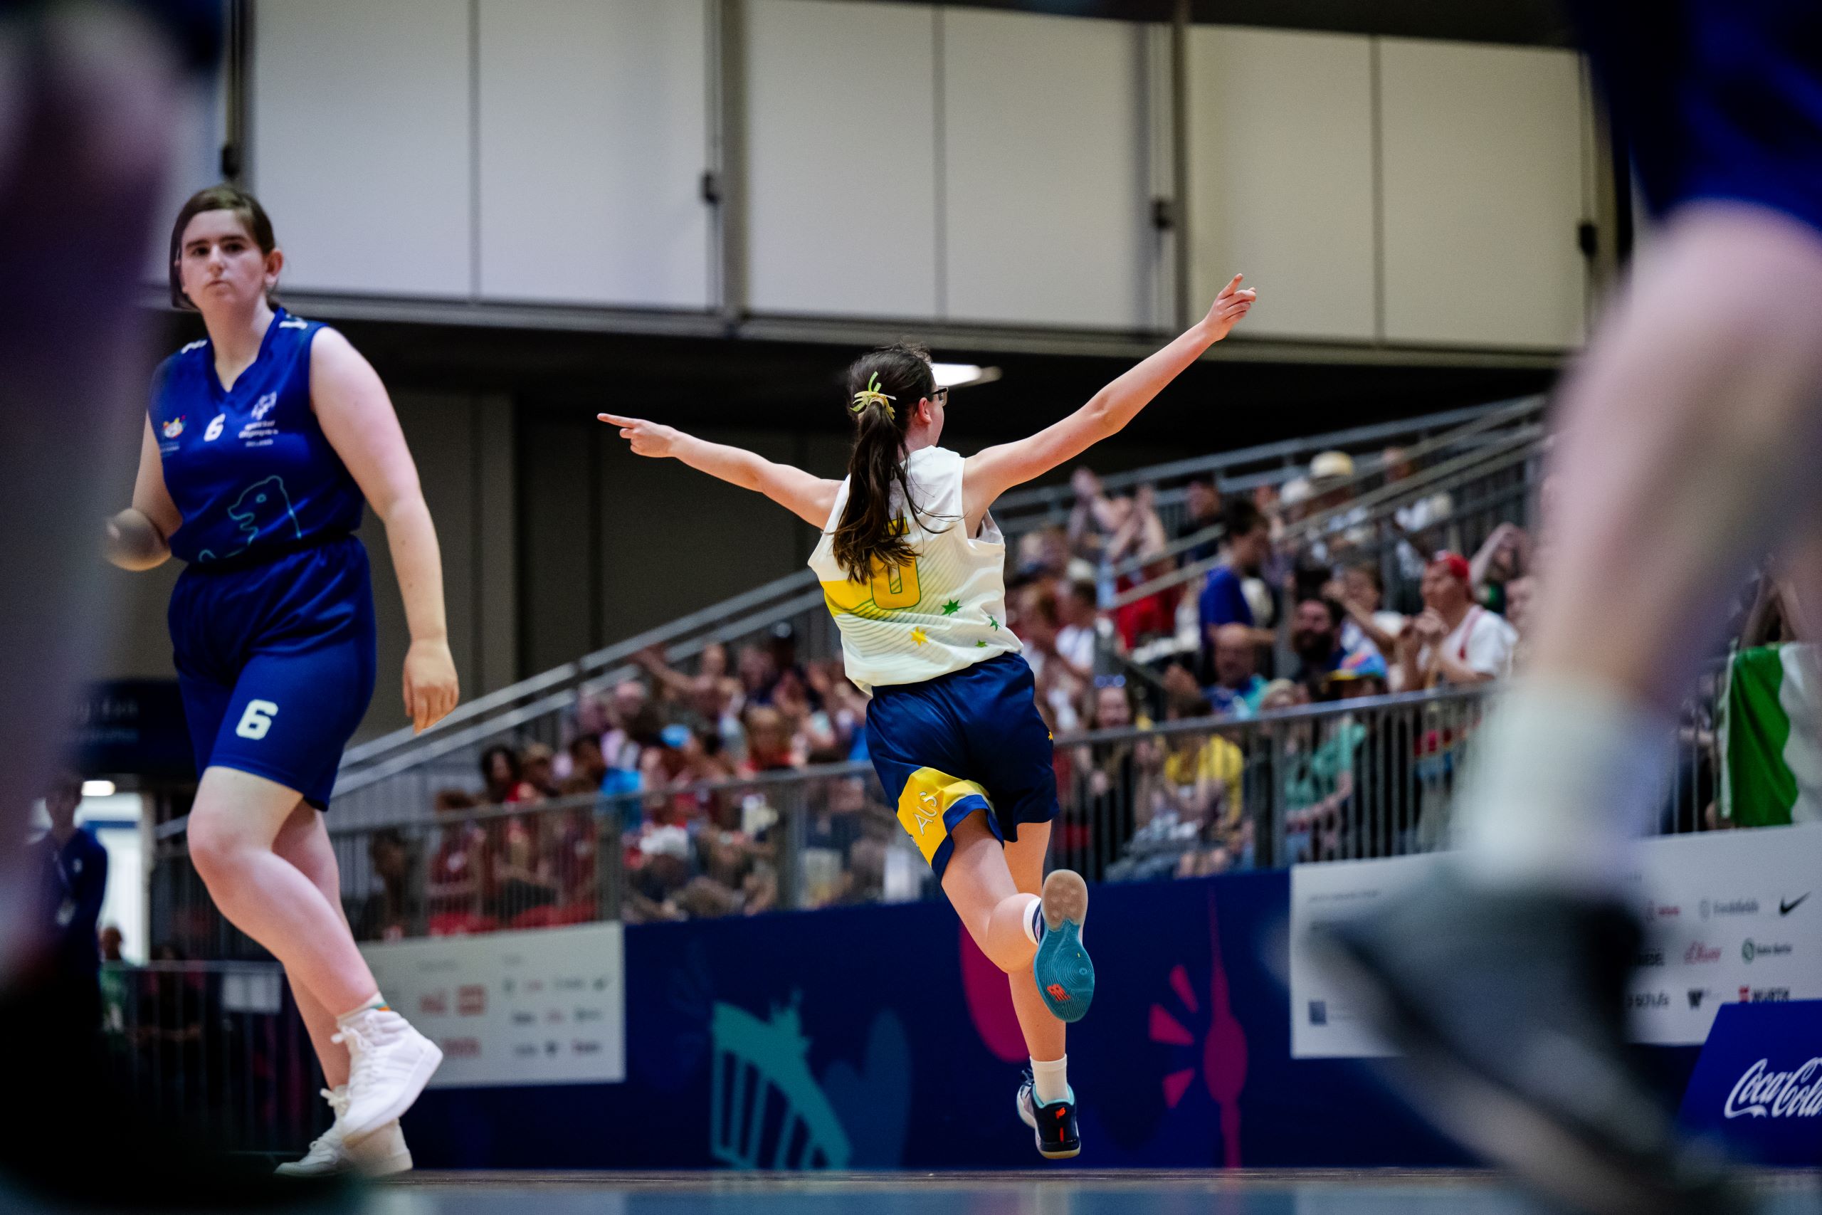
<path fill-rule="evenodd" d="M 104 965 L 102 1042 L 118 1091 L 211 1148 L 295 1155 L 328 1126 L 275 962 Z"/>

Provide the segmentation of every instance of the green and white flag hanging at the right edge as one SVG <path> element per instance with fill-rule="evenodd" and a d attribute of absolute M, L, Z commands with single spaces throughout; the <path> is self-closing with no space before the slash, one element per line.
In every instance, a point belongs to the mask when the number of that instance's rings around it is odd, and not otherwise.
<path fill-rule="evenodd" d="M 1738 650 L 1720 698 L 1720 814 L 1822 822 L 1822 663 L 1813 645 Z"/>

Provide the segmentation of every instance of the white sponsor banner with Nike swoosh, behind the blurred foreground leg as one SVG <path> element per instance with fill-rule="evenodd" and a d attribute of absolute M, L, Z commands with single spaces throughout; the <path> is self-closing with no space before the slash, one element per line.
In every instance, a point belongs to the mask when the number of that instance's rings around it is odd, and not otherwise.
<path fill-rule="evenodd" d="M 1290 871 L 1290 1051 L 1356 1058 L 1390 1049 L 1310 958 L 1314 924 L 1381 905 L 1447 854 Z M 1822 998 L 1822 827 L 1645 840 L 1622 894 L 1645 924 L 1627 1006 L 1633 1040 L 1700 1046 L 1731 1002 Z"/>

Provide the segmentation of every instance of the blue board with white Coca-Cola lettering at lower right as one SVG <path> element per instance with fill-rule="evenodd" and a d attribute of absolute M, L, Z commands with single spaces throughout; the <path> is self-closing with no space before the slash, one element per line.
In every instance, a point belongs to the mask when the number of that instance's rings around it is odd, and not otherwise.
<path fill-rule="evenodd" d="M 1822 1000 L 1729 1004 L 1684 1095 L 1682 1122 L 1762 1164 L 1822 1164 Z"/>

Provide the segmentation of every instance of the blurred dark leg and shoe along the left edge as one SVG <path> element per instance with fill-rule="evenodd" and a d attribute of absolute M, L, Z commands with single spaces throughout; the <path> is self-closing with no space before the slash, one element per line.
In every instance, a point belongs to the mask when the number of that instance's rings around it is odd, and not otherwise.
<path fill-rule="evenodd" d="M 273 1193 L 135 1117 L 95 1049 L 89 984 L 58 982 L 55 965 L 26 982 L 46 947 L 27 814 L 106 623 L 97 523 L 144 408 L 135 297 L 186 71 L 213 64 L 219 20 L 210 0 L 0 0 L 0 506 L 15 528 L 0 581 L 0 1040 L 33 1104 L 0 1140 L 9 1210 L 11 1186 L 91 1210 L 244 1208 Z M 95 1144 L 107 1144 L 106 1168 Z"/>

